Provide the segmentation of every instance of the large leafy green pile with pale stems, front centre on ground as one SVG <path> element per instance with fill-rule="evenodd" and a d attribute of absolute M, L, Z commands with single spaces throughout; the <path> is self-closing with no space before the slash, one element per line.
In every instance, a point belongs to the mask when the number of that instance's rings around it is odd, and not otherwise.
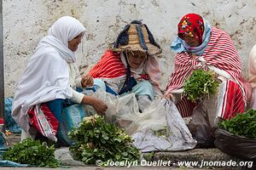
<path fill-rule="evenodd" d="M 69 148 L 75 159 L 85 164 L 109 161 L 137 161 L 139 150 L 124 130 L 104 121 L 102 116 L 84 117 L 69 133 L 75 143 Z"/>

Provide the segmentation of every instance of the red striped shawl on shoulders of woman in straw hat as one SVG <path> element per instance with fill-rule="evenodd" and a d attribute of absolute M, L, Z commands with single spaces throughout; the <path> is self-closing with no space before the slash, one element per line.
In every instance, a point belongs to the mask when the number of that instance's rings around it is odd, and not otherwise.
<path fill-rule="evenodd" d="M 149 80 L 158 87 L 160 83 L 159 64 L 154 56 L 149 56 L 148 58 L 145 61 L 146 74 L 137 75 L 137 79 Z M 107 50 L 98 63 L 89 71 L 89 75 L 93 78 L 126 77 L 126 67 L 119 53 Z M 131 75 L 134 75 L 134 73 L 131 72 Z"/>

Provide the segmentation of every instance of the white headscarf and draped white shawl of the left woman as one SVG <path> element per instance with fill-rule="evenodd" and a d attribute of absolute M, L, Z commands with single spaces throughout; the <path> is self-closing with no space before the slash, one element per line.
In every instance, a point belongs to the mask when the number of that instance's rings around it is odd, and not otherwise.
<path fill-rule="evenodd" d="M 29 129 L 27 111 L 53 99 L 70 99 L 68 62 L 75 62 L 74 52 L 68 48 L 85 28 L 70 16 L 61 17 L 49 28 L 48 36 L 38 43 L 26 71 L 15 89 L 12 115 L 26 132 Z"/>

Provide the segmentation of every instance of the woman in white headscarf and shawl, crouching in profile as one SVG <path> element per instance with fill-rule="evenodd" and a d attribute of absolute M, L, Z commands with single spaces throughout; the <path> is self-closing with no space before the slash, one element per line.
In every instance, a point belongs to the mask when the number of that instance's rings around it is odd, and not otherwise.
<path fill-rule="evenodd" d="M 100 99 L 86 96 L 73 88 L 91 86 L 92 78 L 77 76 L 74 52 L 84 36 L 85 28 L 70 16 L 61 17 L 38 43 L 26 71 L 15 89 L 12 115 L 20 127 L 54 139 L 61 110 L 67 103 L 92 105 L 99 114 L 107 110 Z M 52 114 L 50 113 L 52 112 Z"/>

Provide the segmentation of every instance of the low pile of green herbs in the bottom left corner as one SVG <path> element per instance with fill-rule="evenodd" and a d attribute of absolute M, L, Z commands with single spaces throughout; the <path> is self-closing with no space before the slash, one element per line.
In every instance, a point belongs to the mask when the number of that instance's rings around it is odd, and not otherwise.
<path fill-rule="evenodd" d="M 55 159 L 54 145 L 40 143 L 39 140 L 24 139 L 9 148 L 3 154 L 3 160 L 15 161 L 37 167 L 59 167 L 60 161 Z"/>

